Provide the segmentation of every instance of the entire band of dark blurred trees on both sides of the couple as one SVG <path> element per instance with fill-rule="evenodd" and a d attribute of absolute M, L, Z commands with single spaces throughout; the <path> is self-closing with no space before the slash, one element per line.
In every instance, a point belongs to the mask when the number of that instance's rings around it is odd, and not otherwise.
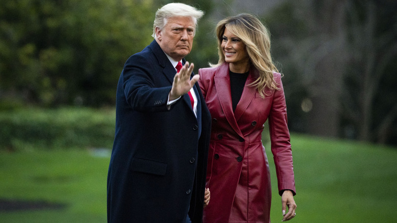
<path fill-rule="evenodd" d="M 153 40 L 154 14 L 171 2 L 3 1 L 0 108 L 114 105 L 124 62 Z M 197 72 L 217 62 L 216 22 L 240 9 L 233 0 L 183 2 L 205 11 L 186 57 Z M 397 144 L 397 2 L 282 2 L 263 18 L 286 74 L 291 130 Z"/>

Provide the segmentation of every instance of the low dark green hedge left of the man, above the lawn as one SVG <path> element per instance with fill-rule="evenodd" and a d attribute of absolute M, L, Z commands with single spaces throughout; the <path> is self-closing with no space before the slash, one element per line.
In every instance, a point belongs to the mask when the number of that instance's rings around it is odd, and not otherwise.
<path fill-rule="evenodd" d="M 0 114 L 0 150 L 111 148 L 115 111 L 23 109 Z"/>

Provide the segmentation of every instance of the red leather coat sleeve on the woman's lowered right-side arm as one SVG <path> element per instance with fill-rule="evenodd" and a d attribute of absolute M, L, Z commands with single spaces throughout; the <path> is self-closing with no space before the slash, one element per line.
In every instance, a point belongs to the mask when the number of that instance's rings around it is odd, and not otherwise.
<path fill-rule="evenodd" d="M 275 74 L 279 90 L 274 91 L 272 107 L 269 115 L 269 132 L 271 151 L 276 167 L 279 194 L 283 190 L 292 190 L 295 195 L 295 179 L 292 162 L 290 133 L 287 122 L 287 106 L 282 88 L 281 75 Z"/>

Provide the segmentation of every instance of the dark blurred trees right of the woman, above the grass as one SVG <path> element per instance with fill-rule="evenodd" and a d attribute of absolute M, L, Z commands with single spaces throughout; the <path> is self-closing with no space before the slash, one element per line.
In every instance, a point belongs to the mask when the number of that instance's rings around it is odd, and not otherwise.
<path fill-rule="evenodd" d="M 288 1 L 268 16 L 293 131 L 397 143 L 396 9 L 387 0 Z"/>

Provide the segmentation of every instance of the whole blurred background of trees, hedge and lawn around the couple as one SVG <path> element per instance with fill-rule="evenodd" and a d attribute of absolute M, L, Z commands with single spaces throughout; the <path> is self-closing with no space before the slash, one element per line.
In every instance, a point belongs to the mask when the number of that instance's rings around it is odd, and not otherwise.
<path fill-rule="evenodd" d="M 5 222 L 106 221 L 106 174 L 118 78 L 128 57 L 153 40 L 156 10 L 171 2 L 2 1 L 0 217 Z M 345 192 L 353 195 L 342 202 L 346 209 L 379 209 L 376 214 L 366 212 L 360 222 L 374 222 L 369 216 L 389 221 L 384 218 L 386 210 L 397 198 L 392 187 L 397 183 L 393 164 L 397 158 L 397 1 L 180 2 L 205 12 L 186 57 L 195 64 L 196 73 L 217 62 L 214 27 L 220 19 L 245 12 L 260 17 L 268 27 L 273 60 L 283 73 L 296 202 L 306 214 L 297 210 L 293 221 L 358 222 L 353 213 L 324 218 L 308 209 L 328 200 L 333 214 L 341 211 L 338 207 L 344 206 L 329 192 L 339 193 L 347 185 L 350 190 Z M 264 144 L 270 148 L 266 132 Z M 391 192 L 379 194 L 388 188 Z M 300 198 L 299 191 L 303 192 Z M 367 195 L 363 191 L 375 191 L 371 199 L 376 201 L 363 198 Z M 92 197 L 81 200 L 91 193 Z M 322 201 L 318 206 L 310 203 L 313 193 Z M 272 216 L 281 220 L 276 194 Z M 367 206 L 357 206 L 363 203 Z M 48 206 L 46 211 L 42 206 Z M 383 209 L 384 214 L 379 212 Z M 316 220 L 319 217 L 323 219 Z"/>

